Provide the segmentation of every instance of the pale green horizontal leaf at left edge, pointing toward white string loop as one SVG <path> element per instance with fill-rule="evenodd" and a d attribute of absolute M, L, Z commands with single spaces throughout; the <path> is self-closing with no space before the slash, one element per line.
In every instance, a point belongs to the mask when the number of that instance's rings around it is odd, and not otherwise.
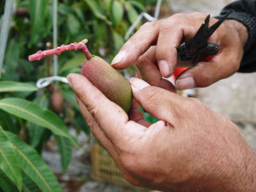
<path fill-rule="evenodd" d="M 0 92 L 35 92 L 38 88 L 28 83 L 0 81 Z"/>

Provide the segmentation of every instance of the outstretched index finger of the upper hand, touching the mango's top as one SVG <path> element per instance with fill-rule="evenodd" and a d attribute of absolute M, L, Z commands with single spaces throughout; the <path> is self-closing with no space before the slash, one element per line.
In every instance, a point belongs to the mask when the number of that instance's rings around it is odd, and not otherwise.
<path fill-rule="evenodd" d="M 159 33 L 158 21 L 147 22 L 123 45 L 111 65 L 118 69 L 128 68 L 147 51 Z"/>

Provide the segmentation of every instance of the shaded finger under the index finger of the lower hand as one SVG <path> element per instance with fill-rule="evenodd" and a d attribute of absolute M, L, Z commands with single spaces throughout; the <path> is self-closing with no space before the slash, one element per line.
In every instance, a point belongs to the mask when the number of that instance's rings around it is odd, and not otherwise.
<path fill-rule="evenodd" d="M 84 116 L 90 130 L 95 138 L 101 143 L 101 145 L 108 150 L 109 154 L 115 159 L 118 158 L 115 148 L 111 141 L 106 137 L 104 132 L 100 129 L 99 124 L 94 120 L 93 116 L 89 113 L 88 109 L 84 106 L 83 102 L 77 98 L 77 104 L 79 105 L 80 111 Z"/>

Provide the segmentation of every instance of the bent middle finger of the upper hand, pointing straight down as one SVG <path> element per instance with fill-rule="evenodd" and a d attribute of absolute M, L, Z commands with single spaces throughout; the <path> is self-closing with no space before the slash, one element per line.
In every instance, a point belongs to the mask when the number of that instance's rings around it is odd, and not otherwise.
<path fill-rule="evenodd" d="M 156 58 L 157 65 L 163 77 L 170 77 L 177 65 L 177 47 L 183 36 L 182 28 L 173 26 L 161 30 L 157 40 Z"/>

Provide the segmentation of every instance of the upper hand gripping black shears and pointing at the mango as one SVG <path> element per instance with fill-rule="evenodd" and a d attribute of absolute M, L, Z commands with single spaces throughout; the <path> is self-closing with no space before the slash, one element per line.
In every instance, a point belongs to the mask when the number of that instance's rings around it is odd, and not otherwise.
<path fill-rule="evenodd" d="M 145 81 L 164 87 L 161 77 L 170 77 L 176 66 L 184 65 L 177 59 L 176 48 L 182 41 L 193 38 L 206 16 L 203 13 L 179 13 L 167 19 L 147 22 L 124 44 L 112 61 L 113 67 L 124 69 L 136 63 Z M 209 26 L 216 21 L 211 17 Z M 221 46 L 220 52 L 210 61 L 197 63 L 183 72 L 175 82 L 177 90 L 209 86 L 237 72 L 247 33 L 240 22 L 225 20 L 209 38 Z"/>

